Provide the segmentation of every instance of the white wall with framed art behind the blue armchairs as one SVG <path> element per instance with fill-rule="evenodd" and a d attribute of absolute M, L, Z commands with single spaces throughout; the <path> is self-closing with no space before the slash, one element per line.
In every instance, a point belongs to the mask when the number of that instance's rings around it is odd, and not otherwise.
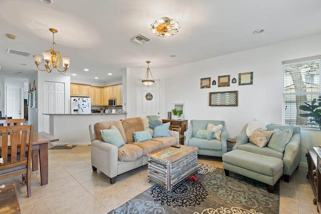
<path fill-rule="evenodd" d="M 184 117 L 192 119 L 224 120 L 229 137 L 244 131 L 249 121 L 263 120 L 282 123 L 282 61 L 321 54 L 321 35 L 278 43 L 270 46 L 233 53 L 208 60 L 189 63 L 169 69 L 152 69 L 155 79 L 161 79 L 164 105 L 161 118 L 166 118 L 173 103 L 185 103 Z M 178 56 L 179 57 L 179 56 Z M 239 73 L 253 72 L 253 85 L 230 83 L 230 87 L 200 88 L 200 79 L 231 75 L 238 80 Z M 136 78 L 144 76 L 144 69 L 127 69 L 128 117 L 135 116 Z M 131 89 L 131 90 L 130 90 Z M 235 91 L 237 107 L 209 106 L 209 92 Z M 321 144 L 320 131 L 302 130 L 302 146 L 311 148 Z M 301 164 L 306 163 L 306 149 L 301 149 Z"/>

